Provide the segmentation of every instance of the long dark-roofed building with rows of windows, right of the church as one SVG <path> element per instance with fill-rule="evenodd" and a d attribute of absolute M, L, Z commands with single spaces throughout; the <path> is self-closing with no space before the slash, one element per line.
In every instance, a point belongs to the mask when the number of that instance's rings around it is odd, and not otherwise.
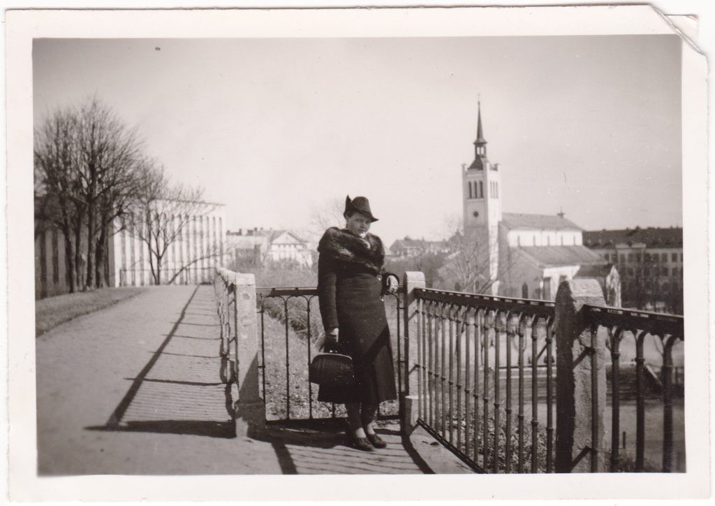
<path fill-rule="evenodd" d="M 682 228 L 594 230 L 583 243 L 618 267 L 623 306 L 683 312 Z"/>

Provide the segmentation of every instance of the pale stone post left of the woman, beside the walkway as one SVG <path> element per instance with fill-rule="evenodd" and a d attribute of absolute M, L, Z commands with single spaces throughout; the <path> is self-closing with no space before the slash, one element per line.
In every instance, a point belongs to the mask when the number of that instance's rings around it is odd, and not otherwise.
<path fill-rule="evenodd" d="M 233 399 L 236 433 L 255 436 L 265 429 L 265 407 L 260 398 L 256 281 L 253 274 L 235 274 L 236 381 Z"/>

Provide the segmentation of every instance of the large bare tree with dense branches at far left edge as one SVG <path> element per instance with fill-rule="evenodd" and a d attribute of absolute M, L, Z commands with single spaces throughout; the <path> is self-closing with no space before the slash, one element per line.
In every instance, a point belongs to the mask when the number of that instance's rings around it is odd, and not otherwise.
<path fill-rule="evenodd" d="M 102 286 L 112 223 L 138 188 L 137 132 L 94 97 L 54 112 L 34 144 L 36 205 L 64 235 L 70 291 Z"/>

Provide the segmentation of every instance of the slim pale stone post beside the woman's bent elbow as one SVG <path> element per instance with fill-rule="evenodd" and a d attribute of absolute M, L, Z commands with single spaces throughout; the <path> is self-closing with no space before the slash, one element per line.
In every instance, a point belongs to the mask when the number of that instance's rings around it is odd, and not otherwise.
<path fill-rule="evenodd" d="M 403 372 L 404 391 L 400 399 L 403 430 L 409 435 L 417 424 L 419 407 L 418 381 L 420 370 L 418 336 L 418 301 L 415 298 L 415 288 L 425 288 L 425 275 L 421 272 L 406 272 L 403 282 L 405 289 L 405 371 Z"/>

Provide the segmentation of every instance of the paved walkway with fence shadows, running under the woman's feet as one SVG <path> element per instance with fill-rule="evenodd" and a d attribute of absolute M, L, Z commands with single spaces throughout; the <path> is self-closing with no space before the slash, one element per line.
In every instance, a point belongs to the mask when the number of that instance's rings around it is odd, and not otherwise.
<path fill-rule="evenodd" d="M 211 286 L 160 286 L 37 339 L 39 474 L 469 472 L 423 435 L 405 448 L 398 427 L 371 454 L 340 432 L 236 437 L 218 331 Z"/>

